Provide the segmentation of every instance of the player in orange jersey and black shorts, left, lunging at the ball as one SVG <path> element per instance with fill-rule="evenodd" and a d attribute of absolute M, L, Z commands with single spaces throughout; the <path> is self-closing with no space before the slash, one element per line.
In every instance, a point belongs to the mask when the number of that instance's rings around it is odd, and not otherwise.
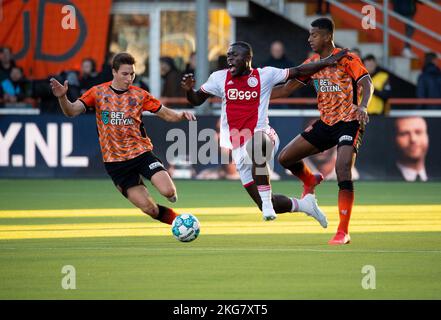
<path fill-rule="evenodd" d="M 51 79 L 53 94 L 68 117 L 94 108 L 98 138 L 104 166 L 117 189 L 144 213 L 163 223 L 171 224 L 176 217 L 172 209 L 157 205 L 142 176 L 149 179 L 169 201 L 177 199 L 176 187 L 153 145 L 146 135 L 142 112 L 150 111 L 165 121 L 195 120 L 189 112 L 176 112 L 161 105 L 150 93 L 132 86 L 135 79 L 135 59 L 119 53 L 113 59 L 113 80 L 92 87 L 75 102 L 66 97 L 67 81 L 61 85 Z"/>

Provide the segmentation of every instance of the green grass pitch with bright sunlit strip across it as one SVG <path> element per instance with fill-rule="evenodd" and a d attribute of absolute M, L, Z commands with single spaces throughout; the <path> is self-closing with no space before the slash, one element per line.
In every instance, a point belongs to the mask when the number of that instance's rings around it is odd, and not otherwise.
<path fill-rule="evenodd" d="M 110 180 L 2 180 L 0 299 L 441 298 L 441 183 L 357 182 L 352 243 L 338 247 L 327 244 L 338 224 L 335 182 L 317 189 L 327 229 L 298 213 L 262 221 L 238 181 L 176 184 L 173 207 L 202 225 L 192 243 L 134 209 Z M 299 195 L 301 186 L 273 182 L 273 192 Z M 66 265 L 75 290 L 62 287 Z M 364 266 L 375 289 L 363 288 Z"/>

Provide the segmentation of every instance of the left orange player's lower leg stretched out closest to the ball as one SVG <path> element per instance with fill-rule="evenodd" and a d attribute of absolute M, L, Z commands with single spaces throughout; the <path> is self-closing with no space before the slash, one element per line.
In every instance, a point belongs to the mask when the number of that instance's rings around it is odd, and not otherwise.
<path fill-rule="evenodd" d="M 123 192 L 119 186 L 117 188 Z M 137 208 L 141 209 L 142 212 L 163 223 L 172 224 L 177 216 L 176 212 L 172 209 L 156 204 L 144 185 L 128 188 L 127 199 Z"/>

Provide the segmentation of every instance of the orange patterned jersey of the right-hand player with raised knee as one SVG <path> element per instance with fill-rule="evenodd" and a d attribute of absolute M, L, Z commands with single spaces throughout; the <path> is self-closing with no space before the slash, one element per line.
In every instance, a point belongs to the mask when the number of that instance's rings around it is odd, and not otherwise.
<path fill-rule="evenodd" d="M 339 51 L 341 49 L 335 48 L 332 54 Z M 320 55 L 314 54 L 304 63 L 319 60 Z M 361 87 L 357 83 L 364 76 L 369 76 L 369 73 L 360 58 L 349 53 L 336 66 L 324 68 L 309 77 L 298 77 L 297 80 L 304 84 L 313 80 L 320 118 L 332 126 L 339 121 L 356 119 L 352 104 L 358 105 L 361 99 Z"/>

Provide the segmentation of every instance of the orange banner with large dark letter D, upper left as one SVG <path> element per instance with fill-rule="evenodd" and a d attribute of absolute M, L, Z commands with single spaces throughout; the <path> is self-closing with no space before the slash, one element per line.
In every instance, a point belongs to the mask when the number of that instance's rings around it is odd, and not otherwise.
<path fill-rule="evenodd" d="M 84 58 L 100 69 L 111 6 L 112 0 L 0 0 L 0 46 L 11 48 L 28 78 L 79 70 Z"/>

